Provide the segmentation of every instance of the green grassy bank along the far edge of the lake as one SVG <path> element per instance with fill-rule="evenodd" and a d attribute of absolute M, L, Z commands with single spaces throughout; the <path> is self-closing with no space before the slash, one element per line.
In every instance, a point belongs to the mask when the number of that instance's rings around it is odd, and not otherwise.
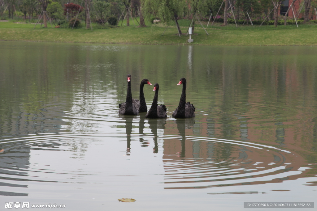
<path fill-rule="evenodd" d="M 121 24 L 121 22 L 120 22 Z M 165 26 L 163 24 L 149 24 L 140 28 L 122 26 L 114 28 L 90 29 L 68 28 L 40 28 L 30 23 L 0 22 L 0 40 L 41 41 L 41 42 L 80 42 L 80 43 L 130 43 L 154 45 L 187 45 L 186 31 L 188 21 L 180 21 L 182 26 L 181 37 L 175 26 L 169 26 L 162 36 Z M 135 22 L 137 25 L 137 22 Z M 214 24 L 206 30 L 196 23 L 195 33 L 192 35 L 192 45 L 317 45 L 317 24 L 287 25 L 287 26 L 220 26 Z M 206 26 L 206 23 L 204 23 Z"/>

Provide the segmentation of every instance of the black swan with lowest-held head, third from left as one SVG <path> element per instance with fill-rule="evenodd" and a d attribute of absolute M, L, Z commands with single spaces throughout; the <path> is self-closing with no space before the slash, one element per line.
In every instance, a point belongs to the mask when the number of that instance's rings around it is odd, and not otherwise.
<path fill-rule="evenodd" d="M 166 107 L 165 105 L 158 105 L 158 96 L 159 96 L 159 84 L 154 84 L 154 89 L 155 91 L 152 106 L 150 110 L 147 112 L 145 115 L 146 118 L 149 119 L 160 119 L 160 118 L 166 118 Z"/>

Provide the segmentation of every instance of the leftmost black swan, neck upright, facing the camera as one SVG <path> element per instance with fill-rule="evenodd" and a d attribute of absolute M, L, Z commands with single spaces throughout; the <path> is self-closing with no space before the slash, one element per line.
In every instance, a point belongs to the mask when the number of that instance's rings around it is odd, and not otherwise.
<path fill-rule="evenodd" d="M 138 115 L 139 111 L 136 108 L 136 105 L 138 104 L 139 100 L 132 99 L 132 93 L 131 93 L 131 75 L 128 74 L 126 76 L 128 81 L 128 90 L 126 92 L 126 102 L 123 102 L 119 104 L 119 114 L 123 115 Z"/>

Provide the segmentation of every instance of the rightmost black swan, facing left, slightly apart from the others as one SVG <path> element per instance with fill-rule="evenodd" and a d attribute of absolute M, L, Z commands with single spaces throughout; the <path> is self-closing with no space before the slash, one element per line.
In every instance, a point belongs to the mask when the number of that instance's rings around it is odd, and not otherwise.
<path fill-rule="evenodd" d="M 172 116 L 174 118 L 191 118 L 195 116 L 195 106 L 190 102 L 186 102 L 186 79 L 181 78 L 177 85 L 183 84 L 182 95 L 180 96 L 179 104 Z"/>

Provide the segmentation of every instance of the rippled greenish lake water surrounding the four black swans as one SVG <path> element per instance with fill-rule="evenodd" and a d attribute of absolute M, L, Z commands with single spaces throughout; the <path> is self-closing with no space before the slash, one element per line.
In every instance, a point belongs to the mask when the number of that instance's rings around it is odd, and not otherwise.
<path fill-rule="evenodd" d="M 76 211 L 314 202 L 316 58 L 316 47 L 298 46 L 1 41 L 1 210 L 5 202 Z M 118 115 L 127 74 L 136 99 L 143 78 L 159 83 L 166 119 Z M 172 117 L 182 77 L 196 108 L 190 119 Z M 148 109 L 152 90 L 145 85 Z"/>

